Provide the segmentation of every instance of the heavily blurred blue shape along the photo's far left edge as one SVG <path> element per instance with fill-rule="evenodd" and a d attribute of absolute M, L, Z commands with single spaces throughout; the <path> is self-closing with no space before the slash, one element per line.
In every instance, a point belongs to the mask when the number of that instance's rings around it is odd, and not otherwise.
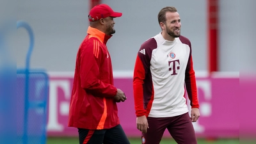
<path fill-rule="evenodd" d="M 0 143 L 16 142 L 16 65 L 12 61 L 6 39 L 10 22 L 0 22 Z"/>

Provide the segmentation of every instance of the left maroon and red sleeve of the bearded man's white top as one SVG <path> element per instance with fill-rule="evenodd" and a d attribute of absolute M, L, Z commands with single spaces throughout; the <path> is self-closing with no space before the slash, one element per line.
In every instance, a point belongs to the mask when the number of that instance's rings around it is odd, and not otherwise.
<path fill-rule="evenodd" d="M 153 49 L 157 44 L 154 38 L 144 42 L 137 54 L 134 76 L 133 76 L 133 93 L 136 116 L 148 116 L 154 97 L 153 83 L 150 72 L 150 60 Z"/>

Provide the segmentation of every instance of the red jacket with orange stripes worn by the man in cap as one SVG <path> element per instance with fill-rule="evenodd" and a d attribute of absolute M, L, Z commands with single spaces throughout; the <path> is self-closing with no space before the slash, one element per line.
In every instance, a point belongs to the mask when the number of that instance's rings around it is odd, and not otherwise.
<path fill-rule="evenodd" d="M 82 129 L 109 129 L 120 124 L 113 86 L 108 39 L 89 26 L 77 52 L 68 126 Z"/>

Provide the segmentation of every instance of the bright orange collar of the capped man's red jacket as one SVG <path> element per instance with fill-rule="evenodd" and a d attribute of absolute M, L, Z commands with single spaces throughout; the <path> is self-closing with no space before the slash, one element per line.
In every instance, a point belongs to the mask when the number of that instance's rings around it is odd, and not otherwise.
<path fill-rule="evenodd" d="M 89 35 L 92 35 L 93 37 L 96 37 L 100 40 L 100 42 L 107 44 L 109 38 L 111 38 L 112 35 L 106 35 L 105 33 L 103 33 L 102 31 L 100 31 L 99 29 L 95 29 L 89 26 L 87 33 Z"/>

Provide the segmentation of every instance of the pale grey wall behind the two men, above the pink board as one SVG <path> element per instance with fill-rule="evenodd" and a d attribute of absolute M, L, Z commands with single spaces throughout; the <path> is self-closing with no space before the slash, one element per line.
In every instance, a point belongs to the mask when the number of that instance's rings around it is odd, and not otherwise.
<path fill-rule="evenodd" d="M 43 67 L 49 72 L 74 71 L 76 52 L 88 28 L 87 16 L 92 6 L 90 3 L 91 0 L 76 2 L 22 0 L 15 3 L 17 20 L 28 21 L 35 33 L 35 50 L 31 58 L 31 67 Z M 180 14 L 181 33 L 191 40 L 196 71 L 204 72 L 209 67 L 209 17 L 218 19 L 216 22 L 218 71 L 239 72 L 238 63 L 234 65 L 234 60 L 240 60 L 239 42 L 248 40 L 255 33 L 253 28 L 255 20 L 253 21 L 250 15 L 255 12 L 253 0 L 245 0 L 243 3 L 239 3 L 239 0 L 219 0 L 218 10 L 211 12 L 211 16 L 209 16 L 208 1 L 205 0 L 161 2 L 101 0 L 96 3 L 109 4 L 113 10 L 123 13 L 122 17 L 115 19 L 116 33 L 108 42 L 115 71 L 133 70 L 136 54 L 142 42 L 161 31 L 157 14 L 164 6 L 175 6 Z M 19 41 L 15 44 L 17 67 L 22 67 L 28 40 L 26 31 L 19 30 L 17 34 L 19 35 Z M 252 43 L 244 47 L 252 47 Z M 243 67 L 250 65 L 250 63 L 245 64 Z"/>

